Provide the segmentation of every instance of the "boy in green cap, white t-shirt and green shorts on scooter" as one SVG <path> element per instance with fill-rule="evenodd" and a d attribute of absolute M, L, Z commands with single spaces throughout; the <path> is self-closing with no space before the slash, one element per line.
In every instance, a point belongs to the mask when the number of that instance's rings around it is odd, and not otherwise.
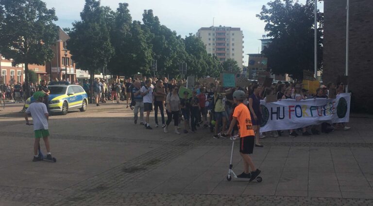
<path fill-rule="evenodd" d="M 28 114 L 31 114 L 34 121 L 34 159 L 33 161 L 43 160 L 37 155 L 38 147 L 40 144 L 40 138 L 43 138 L 45 147 L 47 148 L 47 159 L 52 159 L 51 148 L 49 145 L 49 131 L 48 131 L 48 110 L 47 106 L 43 103 L 45 93 L 42 91 L 34 93 L 35 102 L 31 103 L 29 108 L 25 112 L 26 125 L 31 125 L 29 122 Z"/>

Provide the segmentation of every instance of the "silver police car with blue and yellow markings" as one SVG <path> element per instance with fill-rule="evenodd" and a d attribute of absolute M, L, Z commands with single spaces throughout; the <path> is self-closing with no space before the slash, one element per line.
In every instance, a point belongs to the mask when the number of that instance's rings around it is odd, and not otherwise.
<path fill-rule="evenodd" d="M 69 85 L 65 81 L 52 81 L 48 85 L 48 107 L 51 112 L 59 112 L 66 115 L 71 109 L 85 111 L 87 109 L 88 95 L 79 85 Z M 25 107 L 33 103 L 34 97 L 27 99 Z"/>

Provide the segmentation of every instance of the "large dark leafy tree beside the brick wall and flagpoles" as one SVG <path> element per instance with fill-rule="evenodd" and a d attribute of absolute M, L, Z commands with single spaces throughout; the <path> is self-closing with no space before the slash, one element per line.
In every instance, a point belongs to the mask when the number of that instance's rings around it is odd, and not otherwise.
<path fill-rule="evenodd" d="M 260 15 L 266 22 L 265 31 L 272 38 L 262 52 L 268 57 L 268 67 L 274 74 L 289 74 L 302 79 L 303 70 L 314 68 L 314 1 L 300 4 L 293 0 L 273 0 Z M 322 68 L 323 13 L 318 13 L 318 68 Z"/>

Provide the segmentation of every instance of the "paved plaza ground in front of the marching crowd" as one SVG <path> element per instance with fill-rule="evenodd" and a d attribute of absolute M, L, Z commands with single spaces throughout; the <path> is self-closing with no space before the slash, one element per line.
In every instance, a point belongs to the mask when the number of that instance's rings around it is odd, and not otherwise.
<path fill-rule="evenodd" d="M 21 108 L 0 111 L 0 206 L 373 205 L 373 118 L 351 115 L 349 131 L 261 140 L 252 157 L 263 182 L 249 183 L 226 180 L 231 140 L 202 127 L 147 130 L 111 102 L 51 116 L 57 162 L 32 162 L 33 129 Z M 233 161 L 240 174 L 237 146 Z"/>

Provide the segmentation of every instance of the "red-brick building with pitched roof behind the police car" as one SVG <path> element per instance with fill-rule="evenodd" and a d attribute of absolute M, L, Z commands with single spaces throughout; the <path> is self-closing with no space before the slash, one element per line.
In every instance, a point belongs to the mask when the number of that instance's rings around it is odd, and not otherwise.
<path fill-rule="evenodd" d="M 51 74 L 52 79 L 68 79 L 73 82 L 76 79 L 75 63 L 71 60 L 70 51 L 66 49 L 66 41 L 70 37 L 58 27 L 58 38 L 56 44 L 51 47 L 54 51 L 54 59 L 46 64 L 47 73 Z M 65 58 L 65 52 L 68 54 L 67 58 Z"/>

